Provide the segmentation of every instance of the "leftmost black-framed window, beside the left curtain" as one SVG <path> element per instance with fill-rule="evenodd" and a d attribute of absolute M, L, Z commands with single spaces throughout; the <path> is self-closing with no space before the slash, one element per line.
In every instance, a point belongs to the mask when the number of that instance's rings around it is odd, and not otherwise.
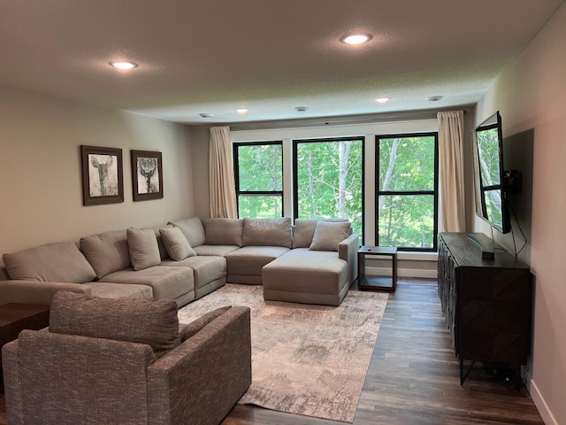
<path fill-rule="evenodd" d="M 233 152 L 238 216 L 281 217 L 283 215 L 282 143 L 234 143 Z"/>

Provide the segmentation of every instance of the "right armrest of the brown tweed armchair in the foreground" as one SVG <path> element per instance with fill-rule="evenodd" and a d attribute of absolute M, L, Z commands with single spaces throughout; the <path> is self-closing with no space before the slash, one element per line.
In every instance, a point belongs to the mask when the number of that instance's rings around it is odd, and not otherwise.
<path fill-rule="evenodd" d="M 148 367 L 149 423 L 218 424 L 251 383 L 248 307 L 232 307 Z"/>

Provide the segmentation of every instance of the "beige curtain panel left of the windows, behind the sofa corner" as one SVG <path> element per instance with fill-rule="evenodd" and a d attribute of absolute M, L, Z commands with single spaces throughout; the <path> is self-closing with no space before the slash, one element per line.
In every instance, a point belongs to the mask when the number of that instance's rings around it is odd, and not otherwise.
<path fill-rule="evenodd" d="M 238 218 L 229 127 L 210 128 L 210 217 Z"/>

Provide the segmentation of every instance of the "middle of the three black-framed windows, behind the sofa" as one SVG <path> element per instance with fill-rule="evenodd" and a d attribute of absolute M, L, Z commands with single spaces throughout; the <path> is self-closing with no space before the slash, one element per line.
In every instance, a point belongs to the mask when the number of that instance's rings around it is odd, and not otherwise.
<path fill-rule="evenodd" d="M 294 141 L 294 217 L 347 218 L 363 235 L 363 137 Z"/>

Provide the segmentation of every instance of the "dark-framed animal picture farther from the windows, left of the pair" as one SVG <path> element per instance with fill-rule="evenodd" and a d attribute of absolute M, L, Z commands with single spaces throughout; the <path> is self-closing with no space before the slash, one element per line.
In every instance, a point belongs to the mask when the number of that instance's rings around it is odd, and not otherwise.
<path fill-rule="evenodd" d="M 80 146 L 82 205 L 124 202 L 122 150 Z"/>

